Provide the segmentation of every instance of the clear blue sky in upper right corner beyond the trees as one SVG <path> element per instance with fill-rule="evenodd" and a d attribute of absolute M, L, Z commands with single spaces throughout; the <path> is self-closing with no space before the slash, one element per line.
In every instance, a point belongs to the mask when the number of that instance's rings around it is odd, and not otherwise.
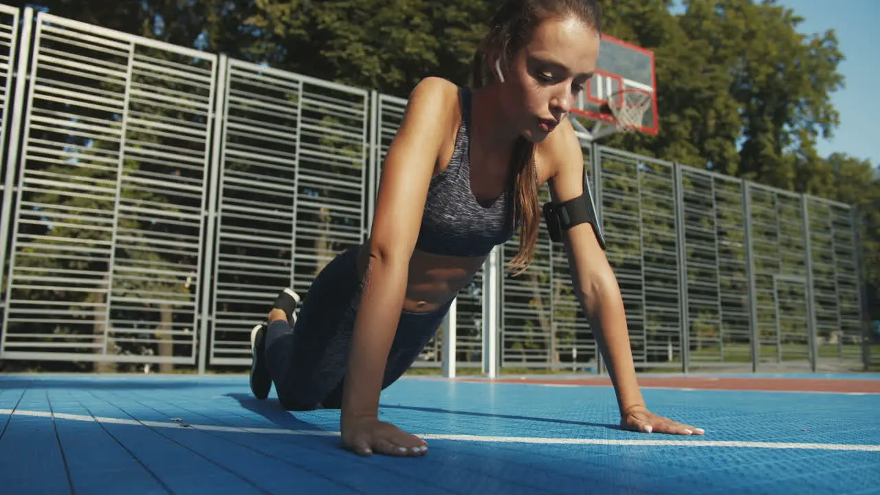
<path fill-rule="evenodd" d="M 838 71 L 845 87 L 832 94 L 840 113 L 840 126 L 831 140 L 821 140 L 822 155 L 840 151 L 858 159 L 869 159 L 880 166 L 880 97 L 874 95 L 880 85 L 880 48 L 876 32 L 880 29 L 880 0 L 781 0 L 804 18 L 802 33 L 823 33 L 833 29 L 846 60 Z M 680 11 L 673 9 L 673 11 Z"/>

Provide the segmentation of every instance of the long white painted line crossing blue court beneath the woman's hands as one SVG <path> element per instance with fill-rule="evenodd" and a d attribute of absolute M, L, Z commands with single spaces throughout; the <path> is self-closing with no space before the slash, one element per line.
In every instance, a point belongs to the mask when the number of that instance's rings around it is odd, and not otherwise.
<path fill-rule="evenodd" d="M 207 432 L 233 432 L 233 433 L 270 433 L 282 435 L 307 435 L 315 437 L 336 437 L 339 432 L 326 432 L 321 430 L 285 430 L 281 428 L 246 428 L 244 426 L 216 426 L 216 425 L 191 425 L 183 426 L 176 422 L 164 421 L 136 421 L 135 419 L 122 419 L 118 417 L 87 416 L 84 414 L 51 413 L 39 410 L 9 410 L 0 409 L 0 415 L 12 414 L 26 417 L 55 417 L 55 419 L 70 419 L 73 421 L 98 422 L 113 425 L 151 426 L 154 428 L 184 428 L 192 430 L 204 430 Z M 794 448 L 804 450 L 853 450 L 862 452 L 880 452 L 880 445 L 856 445 L 840 443 L 803 443 L 803 442 L 750 442 L 736 440 L 612 440 L 612 439 L 553 439 L 541 437 L 486 437 L 480 435 L 444 435 L 437 433 L 419 434 L 416 436 L 424 440 L 459 440 L 480 441 L 495 443 L 525 443 L 540 445 L 605 445 L 605 446 L 656 446 L 656 447 L 740 447 L 740 448 Z"/>

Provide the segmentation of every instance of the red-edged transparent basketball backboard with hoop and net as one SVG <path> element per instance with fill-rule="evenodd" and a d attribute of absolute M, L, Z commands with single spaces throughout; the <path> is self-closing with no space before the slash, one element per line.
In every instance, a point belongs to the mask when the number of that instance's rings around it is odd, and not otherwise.
<path fill-rule="evenodd" d="M 596 73 L 571 117 L 575 129 L 590 141 L 619 131 L 656 135 L 654 52 L 603 34 Z"/>

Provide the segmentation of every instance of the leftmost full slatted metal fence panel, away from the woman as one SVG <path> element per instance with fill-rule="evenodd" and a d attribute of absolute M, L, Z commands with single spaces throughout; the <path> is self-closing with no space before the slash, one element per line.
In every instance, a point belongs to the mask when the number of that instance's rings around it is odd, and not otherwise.
<path fill-rule="evenodd" d="M 44 14 L 20 46 L 3 357 L 192 362 L 216 56 Z"/>

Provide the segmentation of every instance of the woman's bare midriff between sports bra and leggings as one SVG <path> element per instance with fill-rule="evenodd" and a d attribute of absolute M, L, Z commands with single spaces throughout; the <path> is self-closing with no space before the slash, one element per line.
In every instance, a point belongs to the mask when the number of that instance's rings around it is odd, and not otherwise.
<path fill-rule="evenodd" d="M 362 280 L 368 256 L 368 246 L 363 244 L 357 255 L 357 276 Z M 471 282 L 485 261 L 486 256 L 432 255 L 416 249 L 409 260 L 403 311 L 430 313 L 443 307 Z"/>

